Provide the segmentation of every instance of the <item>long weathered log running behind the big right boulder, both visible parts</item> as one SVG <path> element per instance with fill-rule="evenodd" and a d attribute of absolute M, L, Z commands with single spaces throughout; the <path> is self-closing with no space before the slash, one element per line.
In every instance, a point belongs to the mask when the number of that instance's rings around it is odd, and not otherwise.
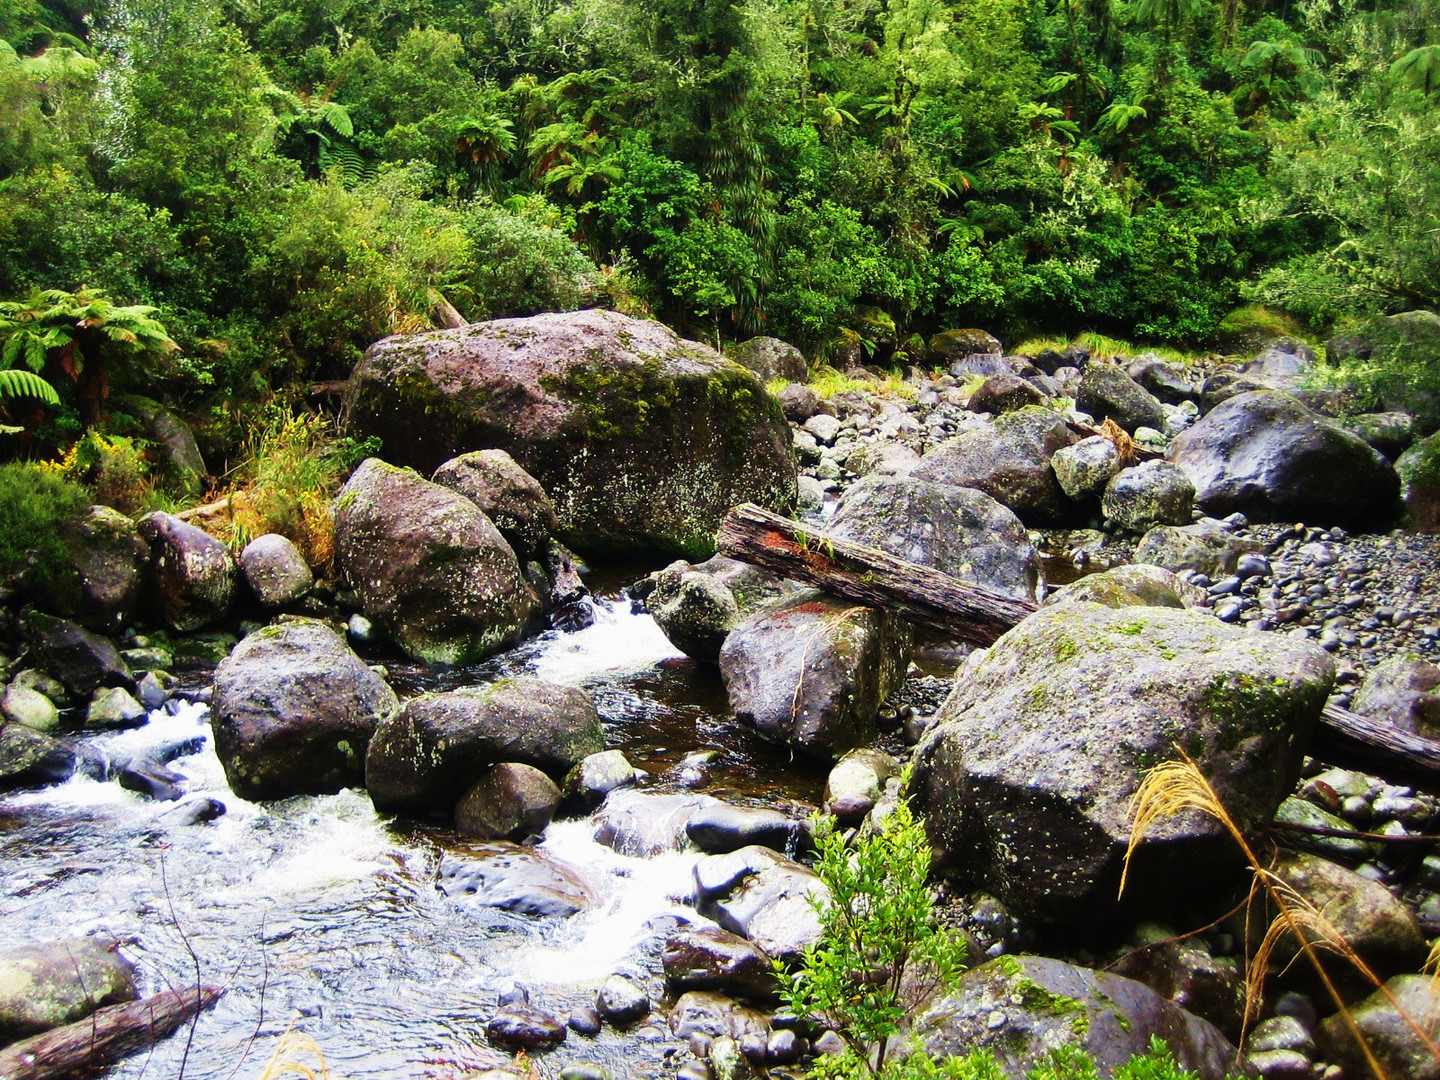
<path fill-rule="evenodd" d="M 971 645 L 989 645 L 1035 611 L 981 585 L 907 563 L 874 547 L 837 540 L 753 504 L 720 524 L 721 554 L 815 585 L 845 599 L 887 608 Z M 1377 723 L 1338 706 L 1320 714 L 1313 753 L 1385 779 L 1440 791 L 1440 742 Z"/>

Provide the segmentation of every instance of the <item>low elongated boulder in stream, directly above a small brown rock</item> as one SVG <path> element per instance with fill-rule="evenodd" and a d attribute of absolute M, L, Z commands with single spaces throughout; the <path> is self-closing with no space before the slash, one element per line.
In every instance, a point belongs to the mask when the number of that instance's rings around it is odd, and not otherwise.
<path fill-rule="evenodd" d="M 406 701 L 370 742 L 366 788 L 382 811 L 449 811 L 492 765 L 520 762 L 562 780 L 603 749 L 583 690 L 504 678 Z"/>

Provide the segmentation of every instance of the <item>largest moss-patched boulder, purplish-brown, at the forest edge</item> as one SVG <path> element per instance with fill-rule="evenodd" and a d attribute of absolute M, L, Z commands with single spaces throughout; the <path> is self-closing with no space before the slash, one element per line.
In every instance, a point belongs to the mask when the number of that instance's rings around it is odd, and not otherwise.
<path fill-rule="evenodd" d="M 423 472 L 507 451 L 585 553 L 704 556 L 732 505 L 795 501 L 791 431 L 755 374 L 613 311 L 379 341 L 351 374 L 344 423 Z"/>

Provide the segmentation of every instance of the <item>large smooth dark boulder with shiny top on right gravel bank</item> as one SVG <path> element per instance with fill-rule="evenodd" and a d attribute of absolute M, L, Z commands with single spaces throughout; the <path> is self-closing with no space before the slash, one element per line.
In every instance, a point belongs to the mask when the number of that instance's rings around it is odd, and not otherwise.
<path fill-rule="evenodd" d="M 1400 478 L 1384 456 L 1274 390 L 1217 406 L 1181 432 L 1169 458 L 1217 517 L 1375 527 L 1398 510 Z"/>

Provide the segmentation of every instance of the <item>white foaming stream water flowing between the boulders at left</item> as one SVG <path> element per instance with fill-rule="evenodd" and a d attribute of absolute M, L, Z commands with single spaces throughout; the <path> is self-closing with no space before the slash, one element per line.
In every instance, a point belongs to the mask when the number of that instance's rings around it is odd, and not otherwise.
<path fill-rule="evenodd" d="M 582 685 L 608 747 L 649 773 L 652 788 L 814 804 L 822 776 L 740 729 L 713 671 L 680 657 L 624 602 L 600 602 L 598 615 L 589 629 L 541 635 L 477 668 L 396 667 L 392 680 L 402 697 L 518 672 Z M 531 919 L 446 897 L 436 867 L 462 838 L 382 818 L 363 792 L 264 805 L 235 796 L 203 706 L 157 711 L 88 746 L 108 760 L 173 757 L 189 792 L 226 806 L 212 824 L 174 825 L 174 804 L 81 776 L 0 799 L 7 942 L 104 932 L 125 943 L 145 992 L 196 981 L 228 988 L 193 1034 L 130 1058 L 118 1077 L 255 1077 L 292 1021 L 337 1077 L 464 1076 L 500 1060 L 482 1028 L 508 985 L 560 1014 L 592 1004 L 613 972 L 658 996 L 665 935 L 704 923 L 687 903 L 697 855 L 618 855 L 590 840 L 583 819 L 552 825 L 543 847 L 580 868 L 600 896 L 596 910 Z M 672 1048 L 660 1031 L 572 1032 L 543 1071 L 595 1060 L 616 1076 L 658 1076 Z"/>

